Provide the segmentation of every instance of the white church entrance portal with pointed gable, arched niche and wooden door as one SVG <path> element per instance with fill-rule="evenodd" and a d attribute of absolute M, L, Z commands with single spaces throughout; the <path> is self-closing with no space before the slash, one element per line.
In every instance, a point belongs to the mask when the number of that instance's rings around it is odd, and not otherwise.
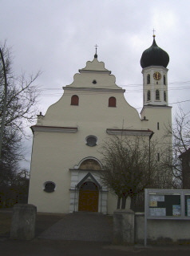
<path fill-rule="evenodd" d="M 94 157 L 86 157 L 71 172 L 71 182 L 74 189 L 70 189 L 70 212 L 85 211 L 106 213 L 107 197 L 102 199 L 102 185 L 99 183 L 101 162 Z M 71 187 L 72 187 L 71 186 Z M 72 193 L 73 190 L 73 193 Z"/>

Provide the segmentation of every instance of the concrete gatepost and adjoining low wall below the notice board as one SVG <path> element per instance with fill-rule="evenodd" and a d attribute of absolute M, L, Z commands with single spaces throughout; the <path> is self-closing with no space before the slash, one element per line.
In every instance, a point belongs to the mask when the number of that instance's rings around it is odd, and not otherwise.
<path fill-rule="evenodd" d="M 147 244 L 190 244 L 189 220 L 148 220 Z M 118 209 L 113 213 L 114 244 L 144 244 L 144 213 Z"/>

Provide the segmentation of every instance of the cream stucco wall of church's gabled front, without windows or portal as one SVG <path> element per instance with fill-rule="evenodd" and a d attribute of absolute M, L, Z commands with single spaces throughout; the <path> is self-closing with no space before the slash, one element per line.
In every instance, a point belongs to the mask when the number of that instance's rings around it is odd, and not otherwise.
<path fill-rule="evenodd" d="M 96 84 L 92 83 L 94 79 Z M 149 128 L 154 131 L 157 121 L 160 120 L 162 125 L 171 118 L 167 110 L 163 112 L 163 109 L 148 108 L 143 112 L 148 121 L 142 121 L 137 110 L 126 102 L 124 90 L 116 85 L 114 75 L 110 75 L 104 63 L 97 59 L 88 62 L 81 74 L 74 75 L 73 83 L 64 89 L 61 99 L 48 108 L 46 115 L 38 116 L 38 129 L 35 126 L 33 128 L 29 203 L 37 205 L 39 212 L 72 211 L 73 196 L 69 189 L 72 189 L 73 181 L 69 169 L 74 169 L 86 157 L 101 161 L 101 144 L 112 136 L 106 132 L 107 128 L 134 131 Z M 79 97 L 78 106 L 71 105 L 72 95 Z M 116 98 L 116 108 L 108 106 L 109 97 Z M 163 113 L 166 113 L 164 118 Z M 49 130 L 47 127 L 59 127 L 60 130 Z M 69 128 L 76 128 L 76 131 L 69 133 Z M 156 133 L 158 137 L 159 132 Z M 85 144 L 85 138 L 89 135 L 97 137 L 97 146 Z M 56 184 L 53 193 L 43 191 L 46 181 Z M 106 197 L 107 212 L 104 209 L 104 213 L 112 214 L 116 209 L 117 198 L 110 192 Z"/>

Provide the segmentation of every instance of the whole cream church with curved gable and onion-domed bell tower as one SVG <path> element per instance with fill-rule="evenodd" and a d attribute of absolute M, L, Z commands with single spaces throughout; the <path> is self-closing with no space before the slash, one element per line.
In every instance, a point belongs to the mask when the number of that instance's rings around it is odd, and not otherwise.
<path fill-rule="evenodd" d="M 73 83 L 63 87 L 61 99 L 46 115 L 38 115 L 37 124 L 31 127 L 29 190 L 29 203 L 36 205 L 38 212 L 113 213 L 117 197 L 100 179 L 101 144 L 121 133 L 162 141 L 165 124 L 172 123 L 168 61 L 168 54 L 157 47 L 154 37 L 141 57 L 141 116 L 127 103 L 125 90 L 117 86 L 105 63 L 98 61 L 97 53 L 74 75 Z"/>

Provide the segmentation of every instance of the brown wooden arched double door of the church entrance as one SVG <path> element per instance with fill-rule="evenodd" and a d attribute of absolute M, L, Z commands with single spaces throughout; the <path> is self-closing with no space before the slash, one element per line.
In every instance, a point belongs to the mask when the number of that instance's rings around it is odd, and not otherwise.
<path fill-rule="evenodd" d="M 84 182 L 79 189 L 78 211 L 98 212 L 99 190 L 93 181 Z"/>

